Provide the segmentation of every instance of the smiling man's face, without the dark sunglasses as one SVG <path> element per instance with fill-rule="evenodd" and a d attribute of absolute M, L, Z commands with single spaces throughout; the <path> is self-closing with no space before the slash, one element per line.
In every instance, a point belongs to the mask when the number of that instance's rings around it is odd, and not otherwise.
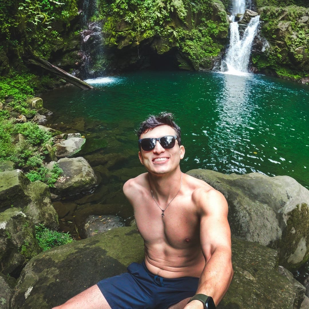
<path fill-rule="evenodd" d="M 177 134 L 169 125 L 159 125 L 147 133 L 143 133 L 140 138 L 161 138 L 167 135 Z M 173 148 L 164 149 L 157 141 L 153 150 L 141 149 L 138 157 L 149 172 L 157 175 L 167 174 L 178 168 L 180 159 L 184 157 L 184 146 L 179 146 L 176 140 Z"/>

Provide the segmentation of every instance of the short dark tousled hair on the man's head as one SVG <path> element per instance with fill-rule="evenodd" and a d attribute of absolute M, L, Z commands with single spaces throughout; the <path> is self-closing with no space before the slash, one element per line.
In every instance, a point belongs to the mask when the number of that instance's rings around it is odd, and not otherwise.
<path fill-rule="evenodd" d="M 156 128 L 159 125 L 169 125 L 176 131 L 178 145 L 181 145 L 181 131 L 180 127 L 174 121 L 174 115 L 168 112 L 160 112 L 159 115 L 149 115 L 148 118 L 143 121 L 138 129 L 135 131 L 138 139 L 141 138 L 143 133 L 147 133 L 148 131 Z M 141 148 L 139 146 L 139 148 Z"/>

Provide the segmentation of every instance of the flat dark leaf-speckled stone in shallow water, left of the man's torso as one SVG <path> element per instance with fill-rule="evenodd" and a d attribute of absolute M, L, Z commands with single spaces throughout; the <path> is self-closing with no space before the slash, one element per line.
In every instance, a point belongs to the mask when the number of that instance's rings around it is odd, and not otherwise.
<path fill-rule="evenodd" d="M 110 231 L 115 227 L 124 226 L 123 220 L 115 215 L 91 215 L 86 219 L 84 226 L 85 234 L 87 237 L 96 235 L 97 233 L 102 233 Z"/>

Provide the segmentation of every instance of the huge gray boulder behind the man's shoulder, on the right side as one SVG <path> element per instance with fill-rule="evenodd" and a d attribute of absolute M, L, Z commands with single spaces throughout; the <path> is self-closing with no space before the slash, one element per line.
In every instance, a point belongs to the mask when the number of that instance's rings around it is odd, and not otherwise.
<path fill-rule="evenodd" d="M 220 191 L 229 204 L 234 237 L 278 250 L 279 264 L 293 271 L 309 257 L 309 191 L 289 176 L 224 175 L 191 170 Z M 308 245 L 307 245 L 308 243 Z"/>

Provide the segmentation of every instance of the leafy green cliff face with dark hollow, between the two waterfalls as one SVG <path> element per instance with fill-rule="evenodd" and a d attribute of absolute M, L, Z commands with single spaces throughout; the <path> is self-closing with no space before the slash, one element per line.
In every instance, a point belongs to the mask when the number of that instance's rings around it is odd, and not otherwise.
<path fill-rule="evenodd" d="M 146 67 L 212 69 L 227 43 L 229 23 L 220 0 L 103 0 L 98 12 L 103 48 L 98 55 L 98 44 L 89 45 L 93 75 Z"/>

